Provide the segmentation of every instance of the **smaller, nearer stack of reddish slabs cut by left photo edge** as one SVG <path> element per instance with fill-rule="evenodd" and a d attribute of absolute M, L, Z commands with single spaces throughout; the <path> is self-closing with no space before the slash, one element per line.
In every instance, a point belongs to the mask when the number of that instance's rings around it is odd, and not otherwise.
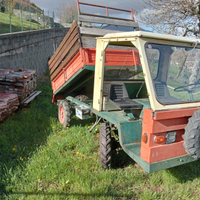
<path fill-rule="evenodd" d="M 17 94 L 0 92 L 0 122 L 18 109 L 19 99 Z"/>

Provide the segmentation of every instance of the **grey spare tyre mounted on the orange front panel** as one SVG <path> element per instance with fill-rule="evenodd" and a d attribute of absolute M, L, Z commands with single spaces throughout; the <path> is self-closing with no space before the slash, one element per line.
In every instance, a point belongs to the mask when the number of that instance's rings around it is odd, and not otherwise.
<path fill-rule="evenodd" d="M 193 158 L 200 159 L 200 110 L 189 118 L 183 139 L 185 151 Z"/>

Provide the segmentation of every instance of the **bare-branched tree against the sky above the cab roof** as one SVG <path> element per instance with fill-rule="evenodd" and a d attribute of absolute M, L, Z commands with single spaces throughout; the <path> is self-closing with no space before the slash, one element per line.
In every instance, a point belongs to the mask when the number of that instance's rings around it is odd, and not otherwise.
<path fill-rule="evenodd" d="M 199 37 L 199 0 L 142 0 L 146 4 L 139 21 L 154 31 Z"/>

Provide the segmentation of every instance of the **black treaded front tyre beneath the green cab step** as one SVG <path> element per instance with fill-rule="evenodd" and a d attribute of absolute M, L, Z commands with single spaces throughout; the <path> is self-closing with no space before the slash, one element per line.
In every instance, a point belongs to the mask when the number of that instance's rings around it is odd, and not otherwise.
<path fill-rule="evenodd" d="M 100 164 L 107 169 L 111 166 L 111 131 L 108 123 L 100 126 Z"/>

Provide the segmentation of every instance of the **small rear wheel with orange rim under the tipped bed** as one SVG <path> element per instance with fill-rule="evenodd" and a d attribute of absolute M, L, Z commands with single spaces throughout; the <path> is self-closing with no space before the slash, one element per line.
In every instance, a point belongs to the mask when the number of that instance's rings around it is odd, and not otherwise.
<path fill-rule="evenodd" d="M 70 126 L 72 119 L 72 107 L 70 102 L 67 100 L 62 100 L 58 107 L 58 119 L 64 128 Z"/>

